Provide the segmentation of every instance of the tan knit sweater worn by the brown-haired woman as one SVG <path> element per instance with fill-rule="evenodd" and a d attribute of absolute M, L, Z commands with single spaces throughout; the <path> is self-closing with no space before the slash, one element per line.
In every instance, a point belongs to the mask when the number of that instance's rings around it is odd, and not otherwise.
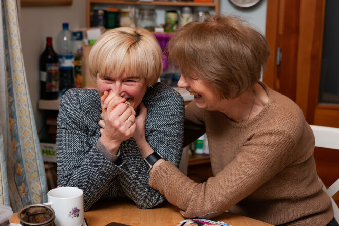
<path fill-rule="evenodd" d="M 260 84 L 269 101 L 247 122 L 186 107 L 185 143 L 206 131 L 214 177 L 195 183 L 167 161 L 149 185 L 186 218 L 229 210 L 273 225 L 326 225 L 333 209 L 317 178 L 312 130 L 292 100 Z"/>

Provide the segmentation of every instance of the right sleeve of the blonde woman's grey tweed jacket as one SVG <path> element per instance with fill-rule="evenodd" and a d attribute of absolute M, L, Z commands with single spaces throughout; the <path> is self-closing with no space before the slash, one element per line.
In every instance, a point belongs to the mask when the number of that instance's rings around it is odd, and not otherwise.
<path fill-rule="evenodd" d="M 158 84 L 153 90 L 147 91 L 143 103 L 147 107 L 145 122 L 147 142 L 155 152 L 178 167 L 183 143 L 183 98 L 172 88 Z M 139 160 L 134 160 L 131 166 L 136 167 L 138 173 L 118 177 L 119 183 L 125 195 L 139 208 L 152 208 L 162 203 L 165 197 L 158 190 L 149 187 L 148 167 L 139 151 L 138 154 Z M 141 161 L 140 167 L 138 167 L 139 161 Z"/>

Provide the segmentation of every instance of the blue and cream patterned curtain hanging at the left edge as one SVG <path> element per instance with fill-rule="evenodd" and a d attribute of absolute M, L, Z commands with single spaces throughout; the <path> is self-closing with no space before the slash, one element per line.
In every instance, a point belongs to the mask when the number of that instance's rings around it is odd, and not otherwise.
<path fill-rule="evenodd" d="M 47 201 L 47 185 L 21 52 L 15 0 L 1 0 L 0 205 Z"/>

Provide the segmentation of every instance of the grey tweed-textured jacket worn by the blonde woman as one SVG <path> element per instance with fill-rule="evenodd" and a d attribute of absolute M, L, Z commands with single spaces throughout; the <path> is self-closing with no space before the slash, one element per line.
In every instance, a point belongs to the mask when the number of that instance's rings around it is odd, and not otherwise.
<path fill-rule="evenodd" d="M 184 102 L 173 88 L 157 83 L 143 98 L 147 107 L 146 140 L 165 160 L 178 167 L 183 145 Z M 138 113 L 138 110 L 137 110 Z M 123 141 L 115 163 L 97 149 L 101 104 L 96 89 L 70 89 L 59 106 L 56 134 L 58 186 L 84 191 L 84 209 L 118 194 L 142 209 L 165 198 L 148 185 L 148 168 L 133 138 Z"/>

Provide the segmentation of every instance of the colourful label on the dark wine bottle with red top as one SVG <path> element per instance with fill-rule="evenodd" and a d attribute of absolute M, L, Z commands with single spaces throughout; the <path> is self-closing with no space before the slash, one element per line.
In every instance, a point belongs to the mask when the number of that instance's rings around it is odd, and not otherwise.
<path fill-rule="evenodd" d="M 45 77 L 44 82 L 46 82 L 46 92 L 59 92 L 59 64 L 58 63 L 46 64 L 46 72 L 43 72 L 43 71 L 41 72 L 41 78 L 43 77 Z"/>

